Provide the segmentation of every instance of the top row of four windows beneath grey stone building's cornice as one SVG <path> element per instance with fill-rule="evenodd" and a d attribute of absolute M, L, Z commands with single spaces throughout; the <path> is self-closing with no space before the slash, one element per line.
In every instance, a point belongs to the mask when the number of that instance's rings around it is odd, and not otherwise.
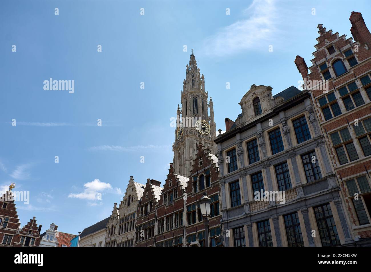
<path fill-rule="evenodd" d="M 306 122 L 306 118 L 304 115 L 293 120 L 292 124 L 294 127 L 296 141 L 298 144 L 311 139 L 311 133 L 309 131 L 308 123 Z M 269 131 L 268 136 L 270 148 L 272 150 L 272 155 L 281 152 L 285 149 L 283 146 L 282 135 L 279 127 L 272 131 Z M 247 142 L 246 145 L 247 145 L 247 158 L 249 160 L 249 164 L 253 164 L 254 162 L 260 161 L 257 140 L 253 139 Z M 236 171 L 238 169 L 236 148 L 227 151 L 227 156 L 229 157 L 229 162 L 227 162 L 228 172 L 230 173 Z"/>

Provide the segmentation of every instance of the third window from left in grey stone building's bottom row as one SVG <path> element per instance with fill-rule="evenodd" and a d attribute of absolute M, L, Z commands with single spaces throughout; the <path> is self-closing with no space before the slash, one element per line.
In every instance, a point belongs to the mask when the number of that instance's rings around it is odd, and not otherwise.
<path fill-rule="evenodd" d="M 303 235 L 300 228 L 298 212 L 284 215 L 286 236 L 289 246 L 304 246 Z"/>

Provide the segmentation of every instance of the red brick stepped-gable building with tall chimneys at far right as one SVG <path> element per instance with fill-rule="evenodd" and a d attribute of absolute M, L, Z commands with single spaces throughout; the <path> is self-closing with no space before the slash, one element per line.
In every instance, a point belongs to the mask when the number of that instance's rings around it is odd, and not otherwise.
<path fill-rule="evenodd" d="M 354 238 L 362 241 L 371 239 L 371 34 L 361 13 L 352 12 L 349 20 L 353 39 L 320 24 L 310 73 L 302 57 L 295 64 L 307 82 L 328 80 L 328 91 L 311 89 L 313 104 Z"/>

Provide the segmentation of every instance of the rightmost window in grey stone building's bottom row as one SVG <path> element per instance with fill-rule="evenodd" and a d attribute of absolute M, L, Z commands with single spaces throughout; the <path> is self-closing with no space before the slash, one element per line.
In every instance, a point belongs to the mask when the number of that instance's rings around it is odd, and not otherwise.
<path fill-rule="evenodd" d="M 319 236 L 322 246 L 340 245 L 338 230 L 336 229 L 334 216 L 330 204 L 323 204 L 313 208 L 316 216 Z"/>

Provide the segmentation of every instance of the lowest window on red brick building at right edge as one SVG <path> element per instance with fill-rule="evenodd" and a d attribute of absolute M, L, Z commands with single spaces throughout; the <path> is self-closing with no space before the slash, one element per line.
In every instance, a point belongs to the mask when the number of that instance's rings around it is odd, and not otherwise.
<path fill-rule="evenodd" d="M 345 181 L 359 225 L 370 224 L 371 188 L 366 176 Z"/>

